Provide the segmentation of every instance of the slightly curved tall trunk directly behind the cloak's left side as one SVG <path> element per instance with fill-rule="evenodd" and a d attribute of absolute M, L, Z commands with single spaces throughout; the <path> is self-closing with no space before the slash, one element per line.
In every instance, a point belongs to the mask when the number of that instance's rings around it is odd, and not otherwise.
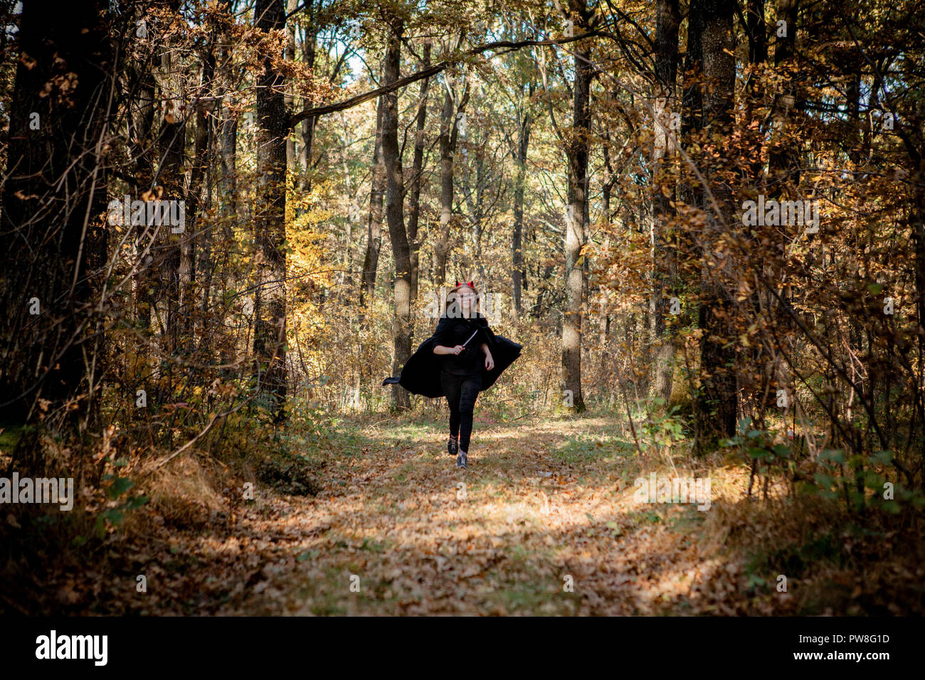
<path fill-rule="evenodd" d="M 388 35 L 383 84 L 388 85 L 400 78 L 401 33 L 404 27 L 399 19 Z M 401 372 L 402 366 L 411 356 L 411 249 L 404 224 L 404 177 L 401 169 L 399 147 L 399 94 L 393 91 L 384 95 L 382 108 L 382 155 L 386 163 L 386 219 L 388 237 L 392 242 L 395 259 L 395 300 L 392 317 L 392 337 L 395 358 L 393 375 Z M 408 408 L 408 391 L 400 385 L 392 386 L 392 400 L 396 408 Z"/>

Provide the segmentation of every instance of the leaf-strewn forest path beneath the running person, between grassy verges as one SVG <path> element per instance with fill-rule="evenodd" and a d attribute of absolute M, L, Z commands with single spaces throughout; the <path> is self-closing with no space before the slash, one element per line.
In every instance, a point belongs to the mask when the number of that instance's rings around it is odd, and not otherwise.
<path fill-rule="evenodd" d="M 262 558 L 220 613 L 685 613 L 721 566 L 693 545 L 705 513 L 635 503 L 615 419 L 476 418 L 465 471 L 445 426 L 353 427 L 317 496 L 265 490 L 239 515 Z"/>

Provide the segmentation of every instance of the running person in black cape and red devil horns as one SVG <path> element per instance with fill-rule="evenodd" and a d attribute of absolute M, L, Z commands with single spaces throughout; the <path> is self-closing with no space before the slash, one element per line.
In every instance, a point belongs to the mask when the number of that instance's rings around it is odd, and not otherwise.
<path fill-rule="evenodd" d="M 478 311 L 478 291 L 472 281 L 457 283 L 447 295 L 447 307 L 434 334 L 425 340 L 401 370 L 383 385 L 399 383 L 415 394 L 446 396 L 450 405 L 447 451 L 456 466 L 468 466 L 475 400 L 520 356 L 521 345 L 496 336 Z"/>

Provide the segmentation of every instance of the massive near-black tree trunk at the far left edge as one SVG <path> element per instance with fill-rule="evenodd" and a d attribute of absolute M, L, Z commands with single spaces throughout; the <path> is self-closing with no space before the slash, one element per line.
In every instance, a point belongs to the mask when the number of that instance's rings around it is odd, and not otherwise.
<path fill-rule="evenodd" d="M 93 0 L 23 4 L 0 216 L 0 414 L 19 422 L 39 399 L 68 420 L 81 392 L 95 404 L 84 341 L 105 262 L 109 18 Z"/>

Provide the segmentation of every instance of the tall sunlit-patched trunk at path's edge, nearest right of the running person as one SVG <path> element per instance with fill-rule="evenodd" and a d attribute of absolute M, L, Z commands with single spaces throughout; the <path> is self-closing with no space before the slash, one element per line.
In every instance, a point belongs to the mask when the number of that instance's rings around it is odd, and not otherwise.
<path fill-rule="evenodd" d="M 586 0 L 573 0 L 569 6 L 575 31 L 586 31 Z M 581 43 L 574 44 L 572 137 L 567 149 L 569 187 L 564 239 L 566 304 L 562 319 L 562 389 L 571 392 L 573 411 L 582 413 L 586 410 L 581 389 L 581 326 L 586 275 L 578 258 L 585 245 L 588 222 L 587 155 L 591 132 L 588 100 L 593 70 L 590 52 Z"/>

